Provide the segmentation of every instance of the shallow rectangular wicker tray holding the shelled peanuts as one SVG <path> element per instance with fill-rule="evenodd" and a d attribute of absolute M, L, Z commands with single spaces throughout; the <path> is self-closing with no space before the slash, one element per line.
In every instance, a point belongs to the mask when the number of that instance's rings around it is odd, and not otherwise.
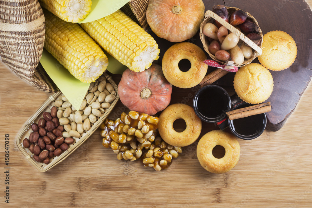
<path fill-rule="evenodd" d="M 51 112 L 51 108 L 54 105 L 54 101 L 56 99 L 61 99 L 61 97 L 64 95 L 61 92 L 54 93 L 51 95 L 46 102 L 44 102 L 41 107 L 37 110 L 37 112 L 32 115 L 32 117 L 25 123 L 24 128 L 21 130 L 19 135 L 17 136 L 16 143 L 17 147 L 20 149 L 20 151 L 23 153 L 23 155 L 26 157 L 26 159 L 36 167 L 36 169 L 40 172 L 45 172 L 47 170 L 50 170 L 52 167 L 56 166 L 63 160 L 65 160 L 71 153 L 73 153 L 82 143 L 84 143 L 94 132 L 95 130 L 100 126 L 100 124 L 107 118 L 107 116 L 110 114 L 110 112 L 114 109 L 116 103 L 119 100 L 118 95 L 118 86 L 115 84 L 113 79 L 111 79 L 111 76 L 107 75 L 106 73 L 103 74 L 106 77 L 106 80 L 110 82 L 110 84 L 113 85 L 115 91 L 116 91 L 116 99 L 113 101 L 113 103 L 110 105 L 109 109 L 105 114 L 103 114 L 101 117 L 98 117 L 95 123 L 91 123 L 91 128 L 88 131 L 83 132 L 80 135 L 80 138 L 74 138 L 75 143 L 69 145 L 69 148 L 64 151 L 60 156 L 54 157 L 50 159 L 49 164 L 44 164 L 41 162 L 35 161 L 35 159 L 32 157 L 32 153 L 29 151 L 29 149 L 26 149 L 23 147 L 23 140 L 25 138 L 29 138 L 30 133 L 32 132 L 31 125 L 32 123 L 38 123 L 39 119 L 42 117 L 43 112 Z"/>

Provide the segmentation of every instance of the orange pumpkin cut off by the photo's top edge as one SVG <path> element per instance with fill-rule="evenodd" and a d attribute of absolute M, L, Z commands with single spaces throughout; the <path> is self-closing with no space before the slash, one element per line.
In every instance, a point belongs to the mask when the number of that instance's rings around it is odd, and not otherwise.
<path fill-rule="evenodd" d="M 150 0 L 146 18 L 158 37 L 182 42 L 196 34 L 204 12 L 202 0 Z"/>

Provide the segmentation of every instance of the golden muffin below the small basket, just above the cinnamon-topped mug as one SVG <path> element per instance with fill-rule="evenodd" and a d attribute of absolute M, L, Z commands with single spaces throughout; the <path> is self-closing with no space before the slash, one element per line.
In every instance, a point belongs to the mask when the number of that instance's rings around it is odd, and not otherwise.
<path fill-rule="evenodd" d="M 234 88 L 237 95 L 245 102 L 262 103 L 273 91 L 273 77 L 264 66 L 255 63 L 247 64 L 236 72 Z"/>

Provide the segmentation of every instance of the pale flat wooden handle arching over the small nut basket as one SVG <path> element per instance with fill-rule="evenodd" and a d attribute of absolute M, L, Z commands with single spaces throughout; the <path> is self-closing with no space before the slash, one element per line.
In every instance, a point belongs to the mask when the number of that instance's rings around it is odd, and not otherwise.
<path fill-rule="evenodd" d="M 247 13 L 248 14 L 248 13 Z M 262 49 L 257 46 L 253 41 L 251 41 L 248 37 L 246 37 L 242 32 L 240 32 L 239 30 L 237 30 L 234 26 L 232 26 L 231 24 L 229 24 L 228 22 L 226 22 L 224 19 L 222 19 L 221 17 L 219 17 L 216 13 L 208 10 L 205 13 L 205 17 L 212 17 L 213 19 L 215 19 L 216 21 L 220 22 L 220 24 L 222 24 L 224 27 L 226 27 L 229 31 L 231 31 L 232 33 L 234 33 L 236 36 L 238 36 L 242 41 L 244 41 L 246 44 L 248 44 L 252 49 L 254 49 L 258 55 L 262 54 Z"/>

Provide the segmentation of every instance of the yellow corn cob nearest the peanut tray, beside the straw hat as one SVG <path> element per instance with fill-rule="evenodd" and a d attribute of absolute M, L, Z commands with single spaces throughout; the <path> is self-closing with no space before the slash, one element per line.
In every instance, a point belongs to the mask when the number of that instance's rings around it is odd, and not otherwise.
<path fill-rule="evenodd" d="M 78 80 L 90 83 L 103 74 L 108 59 L 99 45 L 77 24 L 44 11 L 44 47 Z"/>

